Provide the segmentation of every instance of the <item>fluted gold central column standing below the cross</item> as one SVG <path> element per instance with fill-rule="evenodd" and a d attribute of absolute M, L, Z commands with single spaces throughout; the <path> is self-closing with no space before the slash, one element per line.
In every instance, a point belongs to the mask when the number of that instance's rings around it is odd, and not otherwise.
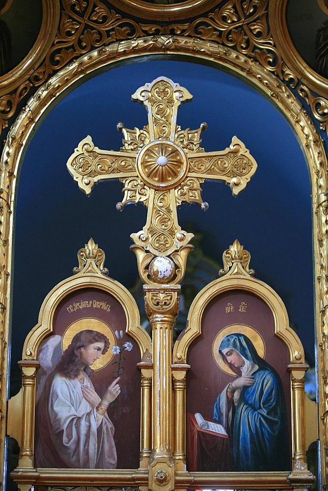
<path fill-rule="evenodd" d="M 144 285 L 146 313 L 153 330 L 152 452 L 149 489 L 174 489 L 172 455 L 172 330 L 179 310 L 180 285 Z"/>

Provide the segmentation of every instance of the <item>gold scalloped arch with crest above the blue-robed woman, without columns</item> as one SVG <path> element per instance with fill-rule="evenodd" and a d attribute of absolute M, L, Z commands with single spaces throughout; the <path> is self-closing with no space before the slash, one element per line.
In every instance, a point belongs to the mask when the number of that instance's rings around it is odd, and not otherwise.
<path fill-rule="evenodd" d="M 240 247 L 235 241 L 230 249 Z M 241 247 L 242 252 L 243 247 Z M 248 254 L 249 255 L 249 254 Z M 224 260 L 224 254 L 223 254 Z M 304 363 L 304 352 L 298 335 L 289 327 L 286 307 L 276 292 L 266 283 L 246 273 L 239 262 L 232 264 L 231 270 L 222 278 L 206 285 L 191 303 L 188 313 L 187 328 L 179 336 L 173 349 L 173 363 L 186 363 L 187 352 L 191 342 L 201 334 L 201 319 L 206 306 L 211 300 L 224 292 L 243 290 L 250 292 L 269 306 L 273 314 L 274 333 L 288 346 L 291 363 Z"/>

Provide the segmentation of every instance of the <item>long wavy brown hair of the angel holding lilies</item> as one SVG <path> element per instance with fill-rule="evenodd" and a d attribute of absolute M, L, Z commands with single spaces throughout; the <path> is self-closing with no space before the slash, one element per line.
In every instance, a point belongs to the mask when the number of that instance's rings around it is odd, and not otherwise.
<path fill-rule="evenodd" d="M 105 355 L 109 349 L 109 339 L 105 334 L 92 329 L 84 329 L 75 334 L 71 344 L 60 358 L 55 368 L 55 372 L 67 379 L 75 379 L 81 369 L 81 348 L 99 342 L 105 343 L 105 347 L 102 351 L 102 355 Z M 89 366 L 86 366 L 84 372 L 90 376 L 92 375 L 93 370 Z"/>

